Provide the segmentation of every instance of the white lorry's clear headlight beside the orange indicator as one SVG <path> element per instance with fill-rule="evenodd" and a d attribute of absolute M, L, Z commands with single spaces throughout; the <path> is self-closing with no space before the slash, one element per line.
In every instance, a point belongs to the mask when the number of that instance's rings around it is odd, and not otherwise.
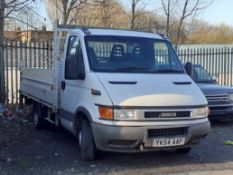
<path fill-rule="evenodd" d="M 136 110 L 131 109 L 114 109 L 115 120 L 137 120 L 138 114 Z"/>

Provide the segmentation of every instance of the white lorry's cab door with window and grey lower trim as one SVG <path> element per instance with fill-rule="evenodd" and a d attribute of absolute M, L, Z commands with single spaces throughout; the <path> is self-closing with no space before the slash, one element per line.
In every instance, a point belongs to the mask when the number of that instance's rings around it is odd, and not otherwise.
<path fill-rule="evenodd" d="M 82 99 L 84 81 L 85 66 L 81 42 L 78 36 L 70 36 L 65 58 L 64 79 L 61 84 L 60 111 L 61 124 L 70 131 L 73 131 L 75 111 Z"/>

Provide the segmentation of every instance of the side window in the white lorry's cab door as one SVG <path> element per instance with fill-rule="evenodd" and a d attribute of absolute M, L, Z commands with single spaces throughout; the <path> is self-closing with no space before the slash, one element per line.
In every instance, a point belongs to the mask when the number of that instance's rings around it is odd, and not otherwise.
<path fill-rule="evenodd" d="M 82 73 L 84 73 L 84 63 L 80 40 L 77 36 L 71 36 L 66 53 L 65 79 L 79 79 Z"/>

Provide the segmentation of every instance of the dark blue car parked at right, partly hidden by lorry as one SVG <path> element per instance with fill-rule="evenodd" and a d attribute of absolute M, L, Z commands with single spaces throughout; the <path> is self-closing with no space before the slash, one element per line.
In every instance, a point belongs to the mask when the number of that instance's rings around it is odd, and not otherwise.
<path fill-rule="evenodd" d="M 192 79 L 205 94 L 210 120 L 233 120 L 233 88 L 219 85 L 200 65 L 193 65 Z"/>

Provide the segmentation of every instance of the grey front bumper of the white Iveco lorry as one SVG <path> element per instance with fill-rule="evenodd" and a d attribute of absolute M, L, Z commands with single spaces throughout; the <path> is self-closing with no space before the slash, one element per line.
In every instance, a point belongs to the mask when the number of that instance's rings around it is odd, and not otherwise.
<path fill-rule="evenodd" d="M 187 128 L 185 135 L 182 135 L 185 137 L 184 145 L 160 148 L 152 146 L 153 139 L 156 137 L 149 138 L 149 129 L 168 129 L 180 127 Z M 199 143 L 200 139 L 208 134 L 210 131 L 210 123 L 208 120 L 204 120 L 204 122 L 202 120 L 202 122 L 195 124 L 165 124 L 154 126 L 109 126 L 92 123 L 92 130 L 96 146 L 100 150 L 114 152 L 141 152 L 190 147 Z M 168 136 L 160 137 L 167 138 Z M 169 136 L 169 138 L 171 138 L 171 136 Z M 141 149 L 142 146 L 143 149 Z"/>

